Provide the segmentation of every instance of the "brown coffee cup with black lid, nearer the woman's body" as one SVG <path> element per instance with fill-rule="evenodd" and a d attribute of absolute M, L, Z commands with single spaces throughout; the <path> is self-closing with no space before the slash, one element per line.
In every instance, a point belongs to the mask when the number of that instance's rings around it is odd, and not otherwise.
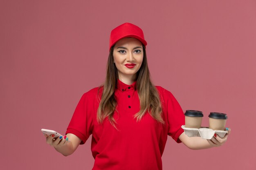
<path fill-rule="evenodd" d="M 186 128 L 201 128 L 202 117 L 204 116 L 201 111 L 186 110 L 184 115 Z"/>

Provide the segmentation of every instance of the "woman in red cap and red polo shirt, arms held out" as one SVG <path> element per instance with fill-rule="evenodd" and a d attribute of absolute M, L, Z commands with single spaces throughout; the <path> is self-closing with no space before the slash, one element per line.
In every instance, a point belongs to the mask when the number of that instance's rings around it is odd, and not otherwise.
<path fill-rule="evenodd" d="M 224 144 L 227 135 L 206 140 L 184 134 L 179 103 L 150 81 L 146 45 L 143 31 L 134 24 L 113 29 L 105 83 L 83 94 L 66 140 L 45 135 L 47 143 L 67 156 L 92 134 L 93 170 L 162 170 L 168 135 L 195 150 Z"/>

